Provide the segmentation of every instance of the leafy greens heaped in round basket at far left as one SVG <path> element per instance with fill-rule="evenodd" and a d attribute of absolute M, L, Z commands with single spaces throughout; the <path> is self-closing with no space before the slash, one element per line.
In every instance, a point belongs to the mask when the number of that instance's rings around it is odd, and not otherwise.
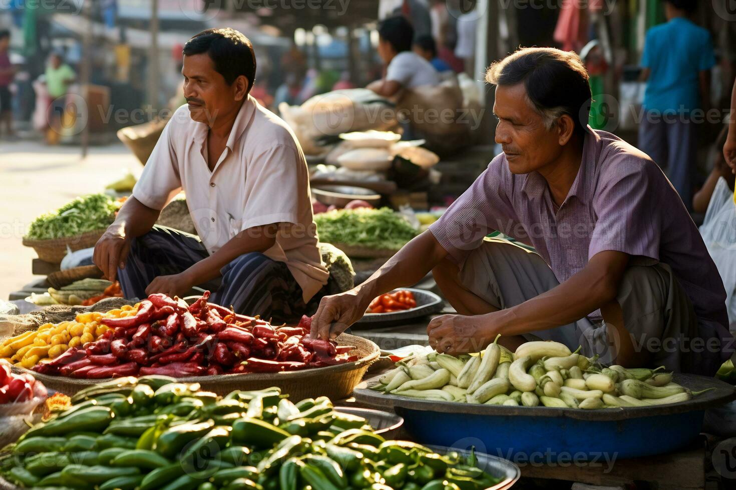
<path fill-rule="evenodd" d="M 74 237 L 88 231 L 107 228 L 115 220 L 121 203 L 109 195 L 90 194 L 74 199 L 56 212 L 37 217 L 28 229 L 26 238 L 45 240 Z"/>

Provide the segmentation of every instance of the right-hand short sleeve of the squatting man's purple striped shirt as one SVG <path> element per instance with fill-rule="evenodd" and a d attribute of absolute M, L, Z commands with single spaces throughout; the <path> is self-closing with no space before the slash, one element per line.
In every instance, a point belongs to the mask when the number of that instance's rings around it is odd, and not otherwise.
<path fill-rule="evenodd" d="M 598 221 L 590 239 L 588 259 L 602 251 L 618 251 L 637 257 L 641 264 L 659 262 L 659 210 L 668 201 L 650 177 L 655 171 L 660 170 L 634 156 L 609 165 L 608 175 L 601 176 L 604 185 L 593 198 Z"/>

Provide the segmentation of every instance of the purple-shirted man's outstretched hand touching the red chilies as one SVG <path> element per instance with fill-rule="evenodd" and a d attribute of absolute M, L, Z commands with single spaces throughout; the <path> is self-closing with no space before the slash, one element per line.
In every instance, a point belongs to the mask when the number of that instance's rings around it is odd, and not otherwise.
<path fill-rule="evenodd" d="M 334 339 L 363 317 L 371 299 L 366 301 L 355 289 L 325 296 L 312 317 L 311 336 Z"/>

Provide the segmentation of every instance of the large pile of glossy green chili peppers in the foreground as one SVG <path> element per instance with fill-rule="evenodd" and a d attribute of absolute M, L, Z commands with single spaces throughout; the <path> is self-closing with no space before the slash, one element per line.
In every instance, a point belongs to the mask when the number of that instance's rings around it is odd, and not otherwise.
<path fill-rule="evenodd" d="M 118 378 L 78 392 L 6 448 L 0 472 L 23 488 L 485 489 L 471 453 L 386 441 L 326 397 L 278 388 L 225 397 L 172 378 Z"/>

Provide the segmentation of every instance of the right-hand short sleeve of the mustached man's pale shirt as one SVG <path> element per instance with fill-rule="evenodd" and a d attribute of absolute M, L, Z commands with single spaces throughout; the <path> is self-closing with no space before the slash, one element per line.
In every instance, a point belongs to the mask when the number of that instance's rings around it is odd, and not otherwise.
<path fill-rule="evenodd" d="M 308 189 L 306 162 L 297 148 L 275 145 L 248 163 L 246 219 L 241 231 L 272 223 L 299 223 L 300 192 Z"/>

